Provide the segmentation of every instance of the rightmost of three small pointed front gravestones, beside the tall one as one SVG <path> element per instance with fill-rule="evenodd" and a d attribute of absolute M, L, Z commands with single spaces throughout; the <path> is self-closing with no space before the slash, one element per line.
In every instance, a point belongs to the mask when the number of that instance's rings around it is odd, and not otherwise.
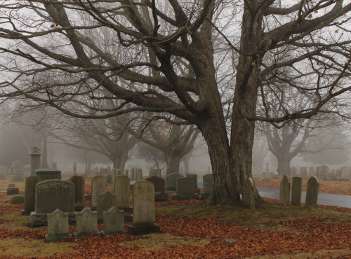
<path fill-rule="evenodd" d="M 124 230 L 124 211 L 111 207 L 107 211 L 104 211 L 104 226 L 101 230 L 101 235 L 110 235 L 114 233 L 126 233 Z"/>

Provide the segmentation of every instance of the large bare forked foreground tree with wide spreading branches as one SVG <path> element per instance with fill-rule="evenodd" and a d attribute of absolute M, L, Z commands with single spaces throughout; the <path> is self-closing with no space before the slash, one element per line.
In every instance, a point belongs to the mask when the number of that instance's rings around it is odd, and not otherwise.
<path fill-rule="evenodd" d="M 13 72 L 1 97 L 79 118 L 147 111 L 196 125 L 208 145 L 216 204 L 241 203 L 256 120 L 282 127 L 326 112 L 328 102 L 328 112 L 350 118 L 347 95 L 340 97 L 351 90 L 348 1 L 38 0 L 1 1 L 0 8 L 0 37 L 9 42 L 0 47 L 1 69 Z M 39 74 L 64 80 L 48 83 Z M 270 82 L 289 84 L 311 105 L 294 110 L 282 102 L 289 92 Z M 267 87 L 276 93 L 270 105 Z M 100 88 L 122 102 L 98 106 L 110 98 Z M 283 113 L 271 116 L 272 106 Z"/>

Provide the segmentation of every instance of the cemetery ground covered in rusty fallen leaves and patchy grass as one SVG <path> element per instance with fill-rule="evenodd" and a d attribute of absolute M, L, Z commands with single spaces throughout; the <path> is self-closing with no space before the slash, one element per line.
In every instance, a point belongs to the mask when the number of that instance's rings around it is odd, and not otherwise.
<path fill-rule="evenodd" d="M 256 185 L 279 187 L 279 181 L 256 180 Z M 0 180 L 0 190 L 8 183 Z M 23 182 L 15 185 L 24 191 Z M 322 180 L 320 191 L 351 195 L 351 182 Z M 306 209 L 265 200 L 254 210 L 198 200 L 156 202 L 159 234 L 45 243 L 47 228 L 29 228 L 29 216 L 20 215 L 23 204 L 10 204 L 10 195 L 1 192 L 0 258 L 351 258 L 351 209 Z M 69 228 L 75 231 L 75 225 Z"/>

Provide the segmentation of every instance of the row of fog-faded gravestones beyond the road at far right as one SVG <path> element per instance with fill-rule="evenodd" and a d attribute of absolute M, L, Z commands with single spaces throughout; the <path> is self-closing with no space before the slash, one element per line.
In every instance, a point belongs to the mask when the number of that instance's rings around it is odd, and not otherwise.
<path fill-rule="evenodd" d="M 298 167 L 291 167 L 290 169 L 291 176 L 297 176 Z M 307 167 L 300 167 L 301 177 L 307 178 L 308 176 L 317 176 L 326 180 L 339 180 L 345 181 L 346 179 L 351 178 L 351 167 L 341 167 L 336 170 L 329 170 L 329 167 L 326 165 L 321 165 L 319 167 L 309 167 L 307 172 Z"/>

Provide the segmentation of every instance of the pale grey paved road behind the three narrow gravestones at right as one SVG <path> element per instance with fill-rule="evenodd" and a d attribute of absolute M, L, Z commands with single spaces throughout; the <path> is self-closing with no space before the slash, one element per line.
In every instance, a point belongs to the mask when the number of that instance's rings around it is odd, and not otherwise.
<path fill-rule="evenodd" d="M 257 189 L 261 196 L 279 200 L 279 189 L 261 187 L 258 187 Z M 306 192 L 303 191 L 301 195 L 301 202 L 305 202 L 305 198 Z M 351 208 L 351 196 L 319 193 L 317 204 Z"/>

